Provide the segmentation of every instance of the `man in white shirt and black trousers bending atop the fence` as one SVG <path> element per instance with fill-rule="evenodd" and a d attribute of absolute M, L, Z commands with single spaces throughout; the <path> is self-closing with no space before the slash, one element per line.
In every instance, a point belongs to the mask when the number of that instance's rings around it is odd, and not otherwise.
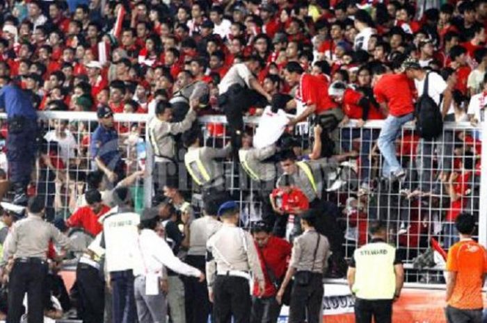
<path fill-rule="evenodd" d="M 241 146 L 241 135 L 244 133 L 243 113 L 250 106 L 263 108 L 272 100 L 271 94 L 262 88 L 254 75 L 261 65 L 259 57 L 248 56 L 245 63 L 233 65 L 218 85 L 218 106 L 227 117 L 234 149 Z"/>

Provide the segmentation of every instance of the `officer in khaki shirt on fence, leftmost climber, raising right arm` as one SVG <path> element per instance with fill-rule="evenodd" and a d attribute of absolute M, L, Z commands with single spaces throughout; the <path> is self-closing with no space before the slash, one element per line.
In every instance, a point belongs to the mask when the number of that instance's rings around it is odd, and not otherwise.
<path fill-rule="evenodd" d="M 195 108 L 198 101 L 191 104 L 186 117 L 181 122 L 172 122 L 173 107 L 167 101 L 160 101 L 156 106 L 156 115 L 149 122 L 149 140 L 154 151 L 154 184 L 156 190 L 162 190 L 169 178 L 177 178 L 176 142 L 174 135 L 184 133 L 191 128 L 196 119 Z"/>

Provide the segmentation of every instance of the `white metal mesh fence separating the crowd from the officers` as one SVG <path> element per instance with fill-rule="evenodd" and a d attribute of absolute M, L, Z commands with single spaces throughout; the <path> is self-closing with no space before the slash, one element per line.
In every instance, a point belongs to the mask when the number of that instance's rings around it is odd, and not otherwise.
<path fill-rule="evenodd" d="M 66 218 L 80 204 L 86 190 L 86 174 L 95 169 L 89 148 L 90 134 L 97 126 L 96 115 L 42 112 L 39 116 L 42 137 L 46 139 L 42 148 L 45 154 L 37 162 L 31 190 L 45 194 L 46 205 L 56 217 Z M 5 119 L 6 115 L 0 115 L 0 129 L 5 126 Z M 147 115 L 115 115 L 125 173 L 145 170 L 145 176 L 131 187 L 138 210 L 150 206 L 154 195 L 150 176 L 152 149 L 146 140 L 148 119 Z M 256 117 L 246 118 L 250 128 L 255 129 L 257 122 Z M 199 123 L 207 146 L 224 147 L 230 140 L 225 117 L 200 117 Z M 324 179 L 328 188 L 326 199 L 342 209 L 338 221 L 345 236 L 344 254 L 351 257 L 354 249 L 367 242 L 369 220 L 385 220 L 390 240 L 406 259 L 407 281 L 441 282 L 442 266 L 431 263 L 431 254 L 422 255 L 429 249 L 432 238 L 445 247 L 454 242 L 455 215 L 461 211 L 472 213 L 478 219 L 477 238 L 487 245 L 487 204 L 486 199 L 480 199 L 487 196 L 487 169 L 484 169 L 487 166 L 480 163 L 487 154 L 487 148 L 481 145 L 486 125 L 473 128 L 468 123 L 446 123 L 438 140 L 422 142 L 413 131 L 413 124 L 406 124 L 397 138 L 397 156 L 407 176 L 406 181 L 394 185 L 382 179 L 383 158 L 376 147 L 381 126 L 381 121 L 372 121 L 358 128 L 352 121 L 332 135 L 336 154 L 357 151 L 355 158 L 346 160 Z M 296 126 L 294 135 L 299 138 L 301 148 L 312 146 L 312 133 L 308 123 Z M 238 196 L 244 223 L 250 225 L 251 220 L 260 218 L 257 188 L 232 160 L 223 164 L 227 189 Z M 4 152 L 0 153 L 0 167 L 8 167 Z M 183 163 L 179 176 L 187 178 L 184 170 Z M 190 186 L 182 189 L 188 193 L 188 199 L 198 201 L 197 192 Z M 422 264 L 420 270 L 416 269 L 418 264 Z"/>

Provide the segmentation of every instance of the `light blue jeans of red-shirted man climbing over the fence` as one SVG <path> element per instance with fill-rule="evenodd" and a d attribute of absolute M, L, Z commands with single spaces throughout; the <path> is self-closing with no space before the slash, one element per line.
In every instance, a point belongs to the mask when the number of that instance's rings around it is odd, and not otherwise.
<path fill-rule="evenodd" d="M 396 156 L 396 138 L 399 135 L 402 126 L 406 122 L 410 122 L 414 119 L 413 113 L 404 115 L 402 117 L 394 117 L 389 115 L 384 120 L 384 125 L 381 129 L 381 133 L 378 135 L 377 145 L 378 149 L 384 158 L 384 164 L 382 168 L 383 176 L 390 176 L 392 173 L 397 173 L 402 169 L 399 160 Z"/>

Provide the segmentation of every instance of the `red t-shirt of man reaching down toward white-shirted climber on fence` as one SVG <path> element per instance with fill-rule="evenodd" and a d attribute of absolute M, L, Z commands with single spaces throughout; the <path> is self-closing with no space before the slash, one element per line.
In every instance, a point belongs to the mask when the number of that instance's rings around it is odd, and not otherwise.
<path fill-rule="evenodd" d="M 308 105 L 316 104 L 317 108 L 314 113 L 317 115 L 337 107 L 337 103 L 328 95 L 328 80 L 324 75 L 301 75 L 296 93 L 296 97 L 303 101 L 303 103 Z"/>

